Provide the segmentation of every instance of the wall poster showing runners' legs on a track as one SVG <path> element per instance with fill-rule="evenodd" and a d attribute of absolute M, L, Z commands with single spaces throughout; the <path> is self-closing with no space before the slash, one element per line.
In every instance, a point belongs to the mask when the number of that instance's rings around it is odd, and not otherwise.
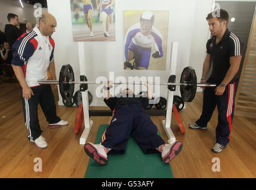
<path fill-rule="evenodd" d="M 115 0 L 70 0 L 75 42 L 115 41 Z"/>

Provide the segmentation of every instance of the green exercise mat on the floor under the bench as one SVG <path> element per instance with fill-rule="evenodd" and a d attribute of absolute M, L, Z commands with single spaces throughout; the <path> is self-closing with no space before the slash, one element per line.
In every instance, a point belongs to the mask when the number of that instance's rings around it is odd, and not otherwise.
<path fill-rule="evenodd" d="M 99 126 L 94 144 L 101 142 L 108 126 Z M 90 158 L 84 178 L 173 178 L 173 173 L 170 164 L 162 162 L 160 153 L 144 154 L 134 138 L 130 137 L 125 153 L 108 154 L 106 165 Z"/>

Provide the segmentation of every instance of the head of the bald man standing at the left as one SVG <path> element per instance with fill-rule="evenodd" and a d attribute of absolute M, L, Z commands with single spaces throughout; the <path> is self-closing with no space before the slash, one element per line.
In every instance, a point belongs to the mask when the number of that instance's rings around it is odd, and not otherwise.
<path fill-rule="evenodd" d="M 51 36 L 55 32 L 57 21 L 52 14 L 45 12 L 39 18 L 39 30 L 43 36 Z"/>

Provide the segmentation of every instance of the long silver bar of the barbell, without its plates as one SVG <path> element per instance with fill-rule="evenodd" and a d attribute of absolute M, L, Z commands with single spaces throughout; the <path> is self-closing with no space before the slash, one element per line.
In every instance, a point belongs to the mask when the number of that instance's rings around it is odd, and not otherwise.
<path fill-rule="evenodd" d="M 58 80 L 40 80 L 38 81 L 39 84 L 59 84 Z M 94 82 L 94 81 L 67 81 L 63 82 L 63 84 L 108 84 L 108 82 L 101 81 L 101 82 Z M 143 82 L 114 82 L 112 84 L 145 84 Z M 152 85 L 192 85 L 189 83 L 148 83 Z M 197 83 L 197 87 L 216 87 L 216 84 L 210 83 Z"/>

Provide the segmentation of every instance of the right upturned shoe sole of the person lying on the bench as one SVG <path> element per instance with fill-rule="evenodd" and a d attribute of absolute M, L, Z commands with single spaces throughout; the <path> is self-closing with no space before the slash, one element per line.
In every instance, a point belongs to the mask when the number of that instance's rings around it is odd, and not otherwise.
<path fill-rule="evenodd" d="M 164 163 L 169 163 L 172 159 L 179 154 L 182 149 L 182 142 L 175 141 L 172 144 L 166 144 L 162 147 L 162 160 Z"/>

